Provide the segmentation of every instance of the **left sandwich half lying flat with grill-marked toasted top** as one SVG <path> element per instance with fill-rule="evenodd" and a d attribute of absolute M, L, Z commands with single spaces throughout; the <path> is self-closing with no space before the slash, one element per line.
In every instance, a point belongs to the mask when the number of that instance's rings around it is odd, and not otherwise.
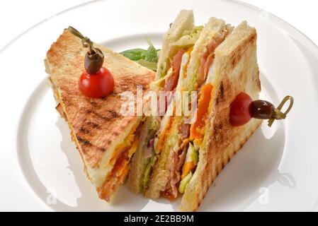
<path fill-rule="evenodd" d="M 104 54 L 103 66 L 113 73 L 115 88 L 107 97 L 93 99 L 79 90 L 87 49 L 68 30 L 64 30 L 47 51 L 45 66 L 57 109 L 69 124 L 86 174 L 96 186 L 99 197 L 110 201 L 127 175 L 130 157 L 137 147 L 136 130 L 142 120 L 142 117 L 120 113 L 125 102 L 120 93 L 131 91 L 135 94 L 137 85 L 147 90 L 155 75 L 106 47 L 94 45 Z"/>

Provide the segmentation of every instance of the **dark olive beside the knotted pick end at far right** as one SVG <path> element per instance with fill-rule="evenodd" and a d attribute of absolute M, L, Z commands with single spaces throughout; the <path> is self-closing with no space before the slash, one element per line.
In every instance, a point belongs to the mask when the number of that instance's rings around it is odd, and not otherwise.
<path fill-rule="evenodd" d="M 251 117 L 255 119 L 271 119 L 274 105 L 266 100 L 254 100 L 251 102 Z"/>

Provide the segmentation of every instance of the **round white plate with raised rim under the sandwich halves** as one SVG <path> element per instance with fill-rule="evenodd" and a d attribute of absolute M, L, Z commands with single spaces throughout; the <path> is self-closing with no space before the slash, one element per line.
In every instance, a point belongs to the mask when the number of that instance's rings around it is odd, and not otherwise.
<path fill-rule="evenodd" d="M 194 10 L 198 25 L 210 16 L 233 25 L 247 20 L 258 32 L 261 97 L 276 105 L 285 95 L 295 97 L 288 119 L 256 131 L 199 210 L 317 210 L 317 46 L 270 13 L 208 0 L 84 4 L 36 25 L 1 52 L 0 210 L 177 210 L 178 201 L 149 201 L 125 187 L 113 206 L 98 199 L 55 111 L 42 60 L 68 25 L 115 51 L 147 47 L 145 35 L 159 47 L 182 8 Z"/>

